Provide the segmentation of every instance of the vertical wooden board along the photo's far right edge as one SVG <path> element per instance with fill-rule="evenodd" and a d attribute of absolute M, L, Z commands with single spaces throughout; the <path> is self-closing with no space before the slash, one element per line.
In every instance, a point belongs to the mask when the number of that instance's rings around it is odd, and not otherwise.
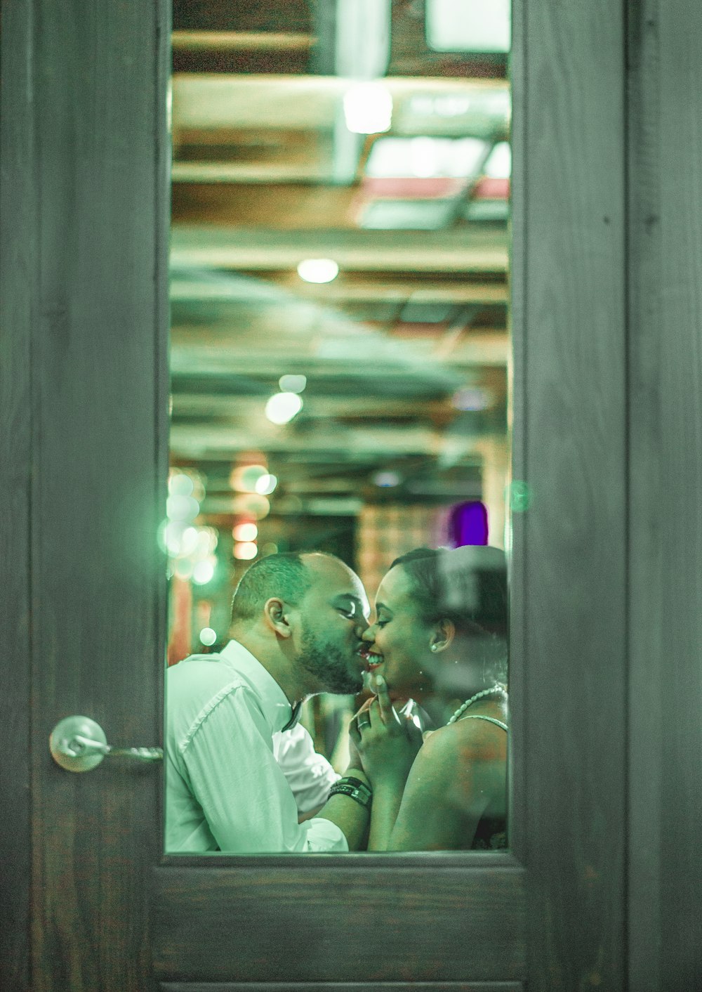
<path fill-rule="evenodd" d="M 702 8 L 632 5 L 630 982 L 702 981 Z"/>

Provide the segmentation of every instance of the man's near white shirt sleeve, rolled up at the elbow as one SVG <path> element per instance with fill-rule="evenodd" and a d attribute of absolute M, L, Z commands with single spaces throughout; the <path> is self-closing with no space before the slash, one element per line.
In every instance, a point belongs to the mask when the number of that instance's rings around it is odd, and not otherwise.
<path fill-rule="evenodd" d="M 214 702 L 180 751 L 189 788 L 219 849 L 232 853 L 347 851 L 330 820 L 297 822 L 270 727 L 247 690 Z"/>

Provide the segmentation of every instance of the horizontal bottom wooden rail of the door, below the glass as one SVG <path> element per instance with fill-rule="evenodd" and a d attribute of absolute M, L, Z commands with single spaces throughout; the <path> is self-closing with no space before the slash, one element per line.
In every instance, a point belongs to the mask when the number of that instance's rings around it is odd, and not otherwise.
<path fill-rule="evenodd" d="M 156 870 L 157 975 L 179 981 L 465 981 L 526 975 L 524 870 L 509 854 L 372 855 Z M 482 863 L 481 863 L 481 859 Z M 423 864 L 421 863 L 423 860 Z M 221 862 L 225 862 L 222 864 Z"/>

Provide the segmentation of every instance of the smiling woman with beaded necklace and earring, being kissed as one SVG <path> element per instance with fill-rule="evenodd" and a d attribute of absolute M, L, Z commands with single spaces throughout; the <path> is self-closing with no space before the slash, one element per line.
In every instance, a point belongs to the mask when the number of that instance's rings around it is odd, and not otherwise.
<path fill-rule="evenodd" d="M 364 635 L 381 708 L 429 690 L 461 704 L 425 735 L 405 793 L 378 818 L 375 850 L 506 846 L 507 571 L 496 548 L 417 549 L 396 559 Z M 354 734 L 372 747 L 366 708 Z M 368 739 L 370 738 L 370 739 Z"/>

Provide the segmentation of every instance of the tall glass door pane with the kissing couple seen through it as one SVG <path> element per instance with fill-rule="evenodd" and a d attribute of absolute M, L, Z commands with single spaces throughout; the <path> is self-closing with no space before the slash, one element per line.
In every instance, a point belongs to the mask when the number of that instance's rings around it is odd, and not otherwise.
<path fill-rule="evenodd" d="M 509 25 L 337 6 L 174 8 L 170 850 L 506 845 Z"/>

